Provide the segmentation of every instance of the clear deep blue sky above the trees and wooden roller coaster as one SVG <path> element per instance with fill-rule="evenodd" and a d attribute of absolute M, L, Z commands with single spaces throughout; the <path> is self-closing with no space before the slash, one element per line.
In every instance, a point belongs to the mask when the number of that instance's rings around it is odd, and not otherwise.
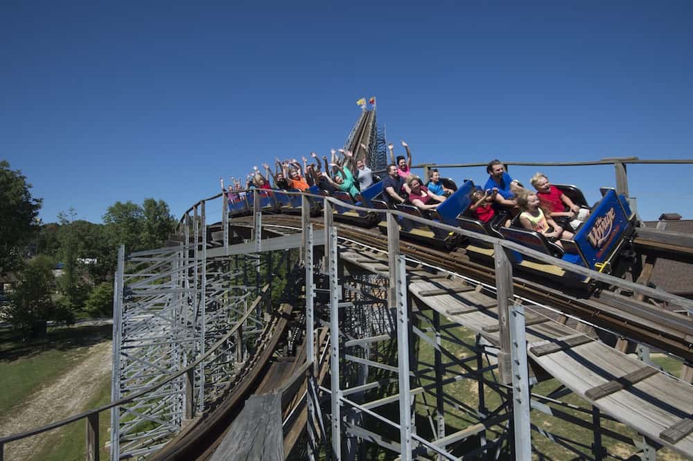
<path fill-rule="evenodd" d="M 690 1 L 174 3 L 0 4 L 0 159 L 44 222 L 146 197 L 179 217 L 220 176 L 340 147 L 370 96 L 414 163 L 693 158 Z M 615 181 L 545 170 L 590 200 Z M 631 167 L 640 215 L 693 218 L 692 176 Z"/>

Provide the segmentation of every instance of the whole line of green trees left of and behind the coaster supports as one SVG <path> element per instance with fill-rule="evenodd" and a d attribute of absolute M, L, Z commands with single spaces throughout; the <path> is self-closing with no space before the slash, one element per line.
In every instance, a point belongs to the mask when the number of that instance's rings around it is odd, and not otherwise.
<path fill-rule="evenodd" d="M 21 171 L 0 161 L 0 322 L 24 338 L 42 334 L 47 320 L 111 315 L 118 247 L 163 246 L 176 223 L 165 201 L 146 198 L 116 201 L 98 224 L 73 208 L 42 224 L 42 200 L 30 189 Z"/>

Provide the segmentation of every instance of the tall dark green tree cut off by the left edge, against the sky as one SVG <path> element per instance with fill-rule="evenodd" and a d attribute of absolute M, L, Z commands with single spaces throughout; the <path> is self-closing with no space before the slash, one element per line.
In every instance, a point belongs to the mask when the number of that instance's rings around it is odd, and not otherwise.
<path fill-rule="evenodd" d="M 30 188 L 21 171 L 0 161 L 0 273 L 21 266 L 21 251 L 37 230 L 41 200 L 31 196 Z"/>

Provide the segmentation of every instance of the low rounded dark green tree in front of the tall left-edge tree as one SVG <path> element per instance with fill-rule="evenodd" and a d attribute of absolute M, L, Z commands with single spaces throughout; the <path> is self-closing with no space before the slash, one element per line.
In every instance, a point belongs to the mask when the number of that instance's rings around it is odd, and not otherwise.
<path fill-rule="evenodd" d="M 17 284 L 10 295 L 10 304 L 2 309 L 3 317 L 23 338 L 31 336 L 37 323 L 53 320 L 55 303 L 51 294 L 55 291 L 53 260 L 48 256 L 37 256 L 17 273 Z"/>

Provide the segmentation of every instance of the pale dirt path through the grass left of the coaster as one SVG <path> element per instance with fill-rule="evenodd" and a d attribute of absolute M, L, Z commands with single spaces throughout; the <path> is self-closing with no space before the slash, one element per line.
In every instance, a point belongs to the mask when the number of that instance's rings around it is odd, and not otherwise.
<path fill-rule="evenodd" d="M 87 404 L 104 379 L 111 375 L 111 341 L 89 347 L 86 359 L 44 387 L 21 406 L 21 413 L 0 417 L 0 433 L 16 434 L 44 426 L 87 410 Z M 82 423 L 83 424 L 83 423 Z M 55 431 L 11 442 L 5 447 L 6 460 L 26 460 L 40 449 Z M 103 436 L 102 436 L 103 437 Z M 36 447 L 36 449 L 34 449 Z"/>

